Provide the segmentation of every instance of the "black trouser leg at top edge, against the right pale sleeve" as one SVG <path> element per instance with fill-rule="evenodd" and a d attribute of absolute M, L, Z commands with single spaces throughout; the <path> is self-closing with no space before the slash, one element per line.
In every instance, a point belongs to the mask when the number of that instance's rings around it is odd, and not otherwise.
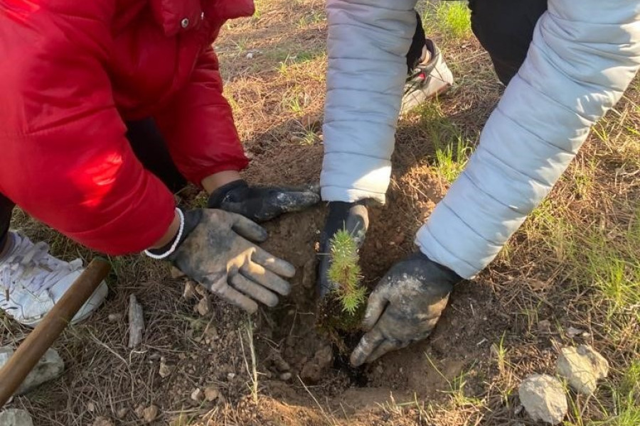
<path fill-rule="evenodd" d="M 524 62 L 547 0 L 469 0 L 471 29 L 508 84 Z"/>

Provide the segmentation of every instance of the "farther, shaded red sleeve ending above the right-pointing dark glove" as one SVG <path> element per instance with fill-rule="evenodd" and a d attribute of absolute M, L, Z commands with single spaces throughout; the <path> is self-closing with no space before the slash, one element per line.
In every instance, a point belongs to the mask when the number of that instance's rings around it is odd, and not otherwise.
<path fill-rule="evenodd" d="M 208 175 L 248 164 L 213 48 L 201 54 L 191 80 L 155 119 L 178 170 L 198 186 Z"/>

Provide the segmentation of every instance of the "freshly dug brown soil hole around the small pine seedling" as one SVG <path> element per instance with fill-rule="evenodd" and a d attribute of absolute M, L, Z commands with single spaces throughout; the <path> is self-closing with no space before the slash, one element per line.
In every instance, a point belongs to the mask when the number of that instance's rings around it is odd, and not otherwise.
<path fill-rule="evenodd" d="M 403 161 L 402 153 L 402 146 L 398 146 L 394 182 L 410 173 L 411 164 Z M 245 176 L 256 184 L 317 182 L 321 155 L 321 146 L 291 146 L 277 155 L 265 153 L 252 161 Z M 433 183 L 432 187 L 439 187 Z M 384 207 L 370 208 L 370 227 L 360 251 L 363 283 L 368 288 L 373 289 L 393 263 L 415 250 L 413 236 L 441 197 L 442 192 L 434 190 L 429 194 L 422 191 L 422 197 L 416 199 L 392 188 Z M 383 356 L 363 368 L 348 366 L 348 352 L 340 351 L 335 339 L 319 327 L 322 319 L 318 317 L 321 314 L 315 289 L 316 257 L 325 214 L 323 205 L 266 224 L 270 239 L 265 249 L 293 263 L 297 274 L 291 280 L 292 293 L 256 319 L 258 369 L 269 371 L 267 376 L 273 378 L 262 379 L 262 393 L 285 403 L 313 405 L 311 392 L 346 414 L 385 403 L 392 394 L 398 402 L 441 400 L 452 390 L 456 378 L 467 372 L 465 395 L 481 393 L 481 382 L 486 378 L 477 372 L 487 371 L 482 364 L 490 362 L 491 343 L 497 342 L 508 327 L 508 317 L 496 315 L 500 307 L 491 288 L 478 282 L 463 283 L 454 290 L 427 341 Z M 353 349 L 360 335 L 349 334 L 344 347 Z"/>

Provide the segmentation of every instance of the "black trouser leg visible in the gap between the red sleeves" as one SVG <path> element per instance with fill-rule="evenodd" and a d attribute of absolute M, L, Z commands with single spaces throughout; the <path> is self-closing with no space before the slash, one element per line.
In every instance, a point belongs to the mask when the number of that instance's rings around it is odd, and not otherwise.
<path fill-rule="evenodd" d="M 187 180 L 176 168 L 153 119 L 128 121 L 127 139 L 144 168 L 164 182 L 171 192 L 178 192 L 186 186 Z"/>

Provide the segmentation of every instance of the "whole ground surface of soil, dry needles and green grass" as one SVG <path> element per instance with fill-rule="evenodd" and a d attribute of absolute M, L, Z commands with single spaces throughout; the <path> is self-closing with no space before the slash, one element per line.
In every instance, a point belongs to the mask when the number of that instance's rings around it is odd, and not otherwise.
<path fill-rule="evenodd" d="M 259 1 L 256 15 L 229 23 L 217 44 L 225 92 L 252 157 L 251 182 L 319 180 L 323 6 Z M 413 250 L 412 236 L 464 165 L 501 93 L 464 8 L 421 10 L 457 86 L 400 121 L 388 204 L 372 210 L 361 252 L 370 286 Z M 65 375 L 13 405 L 46 426 L 90 425 L 98 416 L 139 425 L 136 409 L 149 405 L 159 408 L 155 425 L 533 425 L 518 409 L 518 383 L 528 373 L 553 373 L 562 345 L 588 343 L 613 373 L 594 397 L 571 396 L 567 425 L 640 424 L 639 86 L 596 126 L 550 200 L 491 268 L 454 290 L 426 342 L 362 371 L 333 359 L 315 327 L 314 259 L 325 214 L 316 207 L 267 225 L 265 247 L 298 273 L 292 295 L 251 322 L 213 297 L 185 300 L 183 282 L 149 259 L 112 259 L 105 307 L 55 344 Z M 193 194 L 183 199 L 201 202 Z M 14 224 L 52 241 L 59 256 L 92 256 L 26 217 Z M 118 316 L 132 293 L 146 321 L 134 351 L 126 347 L 126 317 Z M 23 339 L 26 329 L 0 320 L 0 344 Z M 212 386 L 217 400 L 191 398 Z"/>

